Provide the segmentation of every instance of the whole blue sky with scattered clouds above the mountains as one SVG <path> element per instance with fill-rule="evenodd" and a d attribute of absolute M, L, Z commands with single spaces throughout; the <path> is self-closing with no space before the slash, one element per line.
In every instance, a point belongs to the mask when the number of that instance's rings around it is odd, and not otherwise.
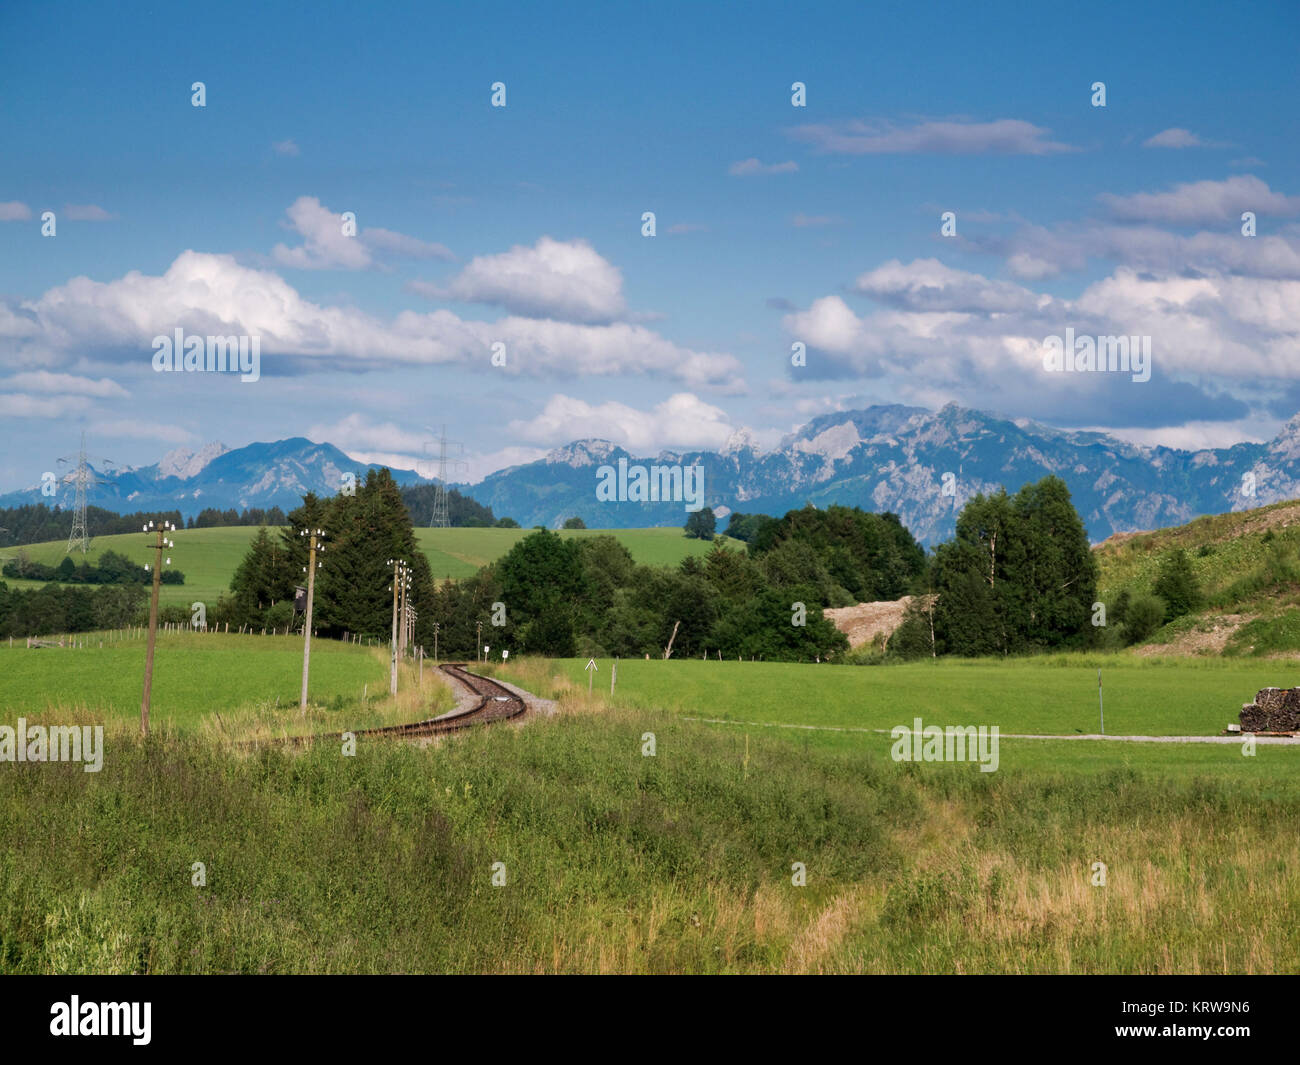
<path fill-rule="evenodd" d="M 1300 7 L 1057 7 L 9 3 L 0 490 L 81 429 L 411 467 L 446 423 L 472 479 L 892 402 L 1270 438 Z M 1067 326 L 1150 335 L 1152 380 L 1049 373 Z M 257 337 L 260 380 L 155 372 L 177 328 Z"/>

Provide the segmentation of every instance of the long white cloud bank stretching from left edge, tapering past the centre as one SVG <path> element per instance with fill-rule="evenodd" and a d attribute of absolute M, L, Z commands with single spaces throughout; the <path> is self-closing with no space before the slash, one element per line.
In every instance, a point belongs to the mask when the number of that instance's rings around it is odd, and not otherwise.
<path fill-rule="evenodd" d="M 6 324 L 12 328 L 4 328 Z M 140 367 L 152 339 L 177 328 L 194 334 L 261 338 L 263 373 L 307 365 L 387 369 L 394 365 L 490 365 L 491 346 L 507 347 L 495 373 L 528 376 L 644 375 L 690 388 L 742 390 L 741 364 L 727 354 L 682 347 L 642 325 L 586 325 L 510 316 L 471 321 L 450 311 L 403 311 L 382 320 L 351 307 L 304 299 L 272 270 L 229 255 L 186 251 L 161 276 L 133 270 L 116 281 L 75 277 L 23 303 L 0 304 L 0 356 L 9 365 L 47 365 L 82 355 L 118 359 L 135 351 Z"/>

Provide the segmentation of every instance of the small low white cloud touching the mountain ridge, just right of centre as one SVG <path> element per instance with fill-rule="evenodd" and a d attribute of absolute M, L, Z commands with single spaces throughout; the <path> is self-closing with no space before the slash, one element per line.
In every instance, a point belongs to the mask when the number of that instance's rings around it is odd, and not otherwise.
<path fill-rule="evenodd" d="M 650 410 L 616 401 L 588 403 L 569 395 L 552 395 L 541 414 L 512 421 L 508 429 L 516 438 L 532 443 L 554 446 L 595 437 L 642 455 L 664 449 L 718 450 L 736 432 L 724 410 L 686 391 L 676 393 Z"/>

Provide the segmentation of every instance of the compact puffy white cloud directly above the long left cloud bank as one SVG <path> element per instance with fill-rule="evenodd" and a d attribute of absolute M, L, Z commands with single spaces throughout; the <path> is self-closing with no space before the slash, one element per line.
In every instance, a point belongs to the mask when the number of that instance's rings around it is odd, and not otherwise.
<path fill-rule="evenodd" d="M 542 237 L 499 255 L 480 255 L 448 283 L 415 282 L 416 291 L 488 303 L 537 319 L 608 322 L 624 316 L 623 274 L 586 241 Z"/>

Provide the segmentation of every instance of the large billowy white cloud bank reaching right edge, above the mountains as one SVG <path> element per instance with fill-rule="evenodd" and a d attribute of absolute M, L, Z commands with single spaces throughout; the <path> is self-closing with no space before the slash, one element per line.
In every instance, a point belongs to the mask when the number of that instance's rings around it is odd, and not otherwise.
<path fill-rule="evenodd" d="M 1300 378 L 1300 280 L 1118 268 L 1078 299 L 1061 300 L 935 267 L 888 263 L 864 274 L 864 287 L 896 294 L 892 309 L 858 316 L 827 295 L 786 315 L 790 339 L 809 346 L 809 376 L 890 376 L 911 394 L 962 381 L 968 391 L 1031 395 L 1078 384 L 1043 375 L 1043 338 L 1072 326 L 1078 334 L 1152 337 L 1153 364 L 1165 377 Z M 919 289 L 911 283 L 918 277 Z"/>

